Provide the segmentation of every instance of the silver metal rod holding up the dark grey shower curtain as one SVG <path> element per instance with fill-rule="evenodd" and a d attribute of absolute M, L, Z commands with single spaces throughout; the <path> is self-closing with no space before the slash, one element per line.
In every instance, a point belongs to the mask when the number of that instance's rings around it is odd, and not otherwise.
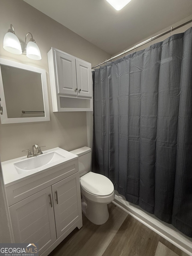
<path fill-rule="evenodd" d="M 122 56 L 122 55 L 124 55 L 125 53 L 128 53 L 128 52 L 134 50 L 135 48 L 138 48 L 138 47 L 140 47 L 140 46 L 142 46 L 142 45 L 144 45 L 144 44 L 147 44 L 147 43 L 149 43 L 149 42 L 151 42 L 151 41 L 153 41 L 153 40 L 155 40 L 155 39 L 157 39 L 157 38 L 159 38 L 159 37 L 161 37 L 161 36 L 163 36 L 163 35 L 166 35 L 166 34 L 168 34 L 168 33 L 170 33 L 170 35 L 171 35 L 171 32 L 172 32 L 173 30 L 179 29 L 179 28 L 181 28 L 182 26 L 187 25 L 187 24 L 190 23 L 190 22 L 191 22 L 191 27 L 192 27 L 192 20 L 190 19 L 190 20 L 185 21 L 184 23 L 182 23 L 182 24 L 176 26 L 175 28 L 171 27 L 171 29 L 169 29 L 169 30 L 167 30 L 167 31 L 165 31 L 165 32 L 162 32 L 162 33 L 159 34 L 159 35 L 156 35 L 156 36 L 154 36 L 154 37 L 151 37 L 151 38 L 147 39 L 146 41 L 143 41 L 143 42 L 140 43 L 140 44 L 136 44 L 134 47 L 131 47 L 130 49 L 128 49 L 128 50 L 126 50 L 126 51 L 124 51 L 124 52 L 122 52 L 122 53 L 119 53 L 118 55 L 116 55 L 116 56 L 114 56 L 114 57 L 111 57 L 110 59 L 108 59 L 108 60 L 106 60 L 106 61 L 104 61 L 104 62 L 102 62 L 102 63 L 99 63 L 99 64 L 96 65 L 96 66 L 93 66 L 91 69 L 96 68 L 96 67 L 98 67 L 98 66 L 100 66 L 100 65 L 102 65 L 102 64 L 104 64 L 104 63 L 106 63 L 106 62 L 109 62 L 110 60 L 116 59 L 117 57 Z"/>

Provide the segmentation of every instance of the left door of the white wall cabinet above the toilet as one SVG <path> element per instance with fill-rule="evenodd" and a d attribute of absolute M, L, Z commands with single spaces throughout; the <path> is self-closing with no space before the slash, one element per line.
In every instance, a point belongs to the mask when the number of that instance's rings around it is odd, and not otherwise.
<path fill-rule="evenodd" d="M 77 95 L 75 58 L 55 50 L 58 93 Z"/>

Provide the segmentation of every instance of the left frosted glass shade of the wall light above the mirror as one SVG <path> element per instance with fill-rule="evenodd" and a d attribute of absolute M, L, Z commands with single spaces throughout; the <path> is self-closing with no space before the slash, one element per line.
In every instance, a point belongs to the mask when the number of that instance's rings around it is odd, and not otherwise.
<path fill-rule="evenodd" d="M 3 48 L 10 53 L 22 54 L 21 44 L 15 34 L 7 32 L 3 40 Z"/>

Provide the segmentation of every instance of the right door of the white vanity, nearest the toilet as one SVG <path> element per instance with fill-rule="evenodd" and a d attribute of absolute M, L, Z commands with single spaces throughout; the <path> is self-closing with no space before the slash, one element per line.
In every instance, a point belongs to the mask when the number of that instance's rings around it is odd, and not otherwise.
<path fill-rule="evenodd" d="M 79 173 L 52 185 L 52 193 L 58 239 L 82 217 Z"/>

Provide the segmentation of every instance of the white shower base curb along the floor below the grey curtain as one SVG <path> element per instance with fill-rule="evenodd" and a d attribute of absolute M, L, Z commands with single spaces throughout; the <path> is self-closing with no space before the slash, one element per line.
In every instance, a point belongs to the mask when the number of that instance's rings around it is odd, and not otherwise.
<path fill-rule="evenodd" d="M 136 206 L 123 198 L 117 191 L 113 203 L 129 213 L 131 216 L 142 222 L 144 225 L 158 233 L 160 236 L 171 242 L 173 245 L 192 256 L 192 238 L 185 236 L 173 225 L 159 220 L 155 215 L 150 214 L 139 206 Z"/>

